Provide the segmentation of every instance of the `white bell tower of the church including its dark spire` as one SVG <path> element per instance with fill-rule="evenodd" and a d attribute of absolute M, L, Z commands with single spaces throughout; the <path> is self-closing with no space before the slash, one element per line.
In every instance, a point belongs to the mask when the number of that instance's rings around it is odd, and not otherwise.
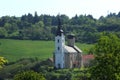
<path fill-rule="evenodd" d="M 61 29 L 61 21 L 58 16 L 58 27 L 55 36 L 55 53 L 54 53 L 54 67 L 64 68 L 64 46 L 65 46 L 65 37 L 63 30 Z"/>

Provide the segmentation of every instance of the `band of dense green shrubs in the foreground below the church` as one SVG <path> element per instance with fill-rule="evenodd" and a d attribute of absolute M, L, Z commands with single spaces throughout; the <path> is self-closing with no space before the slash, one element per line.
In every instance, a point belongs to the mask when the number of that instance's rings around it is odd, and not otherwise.
<path fill-rule="evenodd" d="M 31 75 L 33 76 L 31 77 Z M 39 80 L 40 77 L 36 78 L 39 75 L 44 76 L 46 80 L 84 80 L 89 77 L 87 69 L 55 70 L 49 59 L 39 61 L 37 58 L 23 58 L 16 62 L 10 62 L 0 70 L 0 80 L 13 80 L 13 78 L 14 80 L 28 80 L 28 78 L 30 78 L 29 80 Z"/>

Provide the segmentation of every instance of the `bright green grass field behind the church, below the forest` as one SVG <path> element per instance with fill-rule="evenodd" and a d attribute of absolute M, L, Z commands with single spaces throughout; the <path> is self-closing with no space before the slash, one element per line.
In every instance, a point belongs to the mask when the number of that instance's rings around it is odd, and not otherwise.
<path fill-rule="evenodd" d="M 76 43 L 83 51 L 87 51 L 93 46 Z M 46 59 L 52 57 L 54 51 L 54 41 L 32 41 L 32 40 L 12 40 L 0 39 L 0 56 L 8 61 L 16 61 L 21 58 Z"/>

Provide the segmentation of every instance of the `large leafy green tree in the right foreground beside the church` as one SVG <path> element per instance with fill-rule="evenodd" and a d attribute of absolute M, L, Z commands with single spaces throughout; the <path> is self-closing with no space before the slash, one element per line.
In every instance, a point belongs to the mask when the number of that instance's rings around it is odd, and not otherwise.
<path fill-rule="evenodd" d="M 102 36 L 95 46 L 96 57 L 90 69 L 92 80 L 120 79 L 120 42 L 113 34 Z"/>

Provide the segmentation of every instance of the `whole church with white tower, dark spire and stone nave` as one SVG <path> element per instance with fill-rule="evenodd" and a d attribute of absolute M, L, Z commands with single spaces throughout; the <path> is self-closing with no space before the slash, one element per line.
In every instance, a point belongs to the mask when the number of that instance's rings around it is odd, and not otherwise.
<path fill-rule="evenodd" d="M 65 36 L 61 28 L 60 18 L 58 19 L 58 28 L 55 36 L 54 67 L 61 68 L 80 68 L 82 62 L 82 51 L 75 46 L 75 36 L 67 36 L 67 45 Z"/>

